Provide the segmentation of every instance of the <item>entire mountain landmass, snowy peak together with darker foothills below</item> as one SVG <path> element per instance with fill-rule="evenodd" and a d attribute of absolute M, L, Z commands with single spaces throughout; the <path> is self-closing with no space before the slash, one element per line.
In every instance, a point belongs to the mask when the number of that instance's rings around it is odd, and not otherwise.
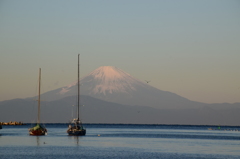
<path fill-rule="evenodd" d="M 66 123 L 75 117 L 76 83 L 41 95 L 43 122 Z M 116 67 L 100 67 L 80 83 L 84 123 L 240 125 L 240 103 L 190 101 L 156 89 Z M 33 99 L 36 97 L 0 102 L 0 121 L 33 122 L 37 114 Z"/>

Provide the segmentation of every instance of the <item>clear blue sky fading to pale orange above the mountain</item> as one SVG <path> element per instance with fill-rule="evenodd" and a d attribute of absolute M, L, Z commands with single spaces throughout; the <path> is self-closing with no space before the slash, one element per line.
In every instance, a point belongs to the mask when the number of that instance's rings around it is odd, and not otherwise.
<path fill-rule="evenodd" d="M 0 101 L 116 66 L 204 103 L 240 102 L 239 0 L 0 0 Z"/>

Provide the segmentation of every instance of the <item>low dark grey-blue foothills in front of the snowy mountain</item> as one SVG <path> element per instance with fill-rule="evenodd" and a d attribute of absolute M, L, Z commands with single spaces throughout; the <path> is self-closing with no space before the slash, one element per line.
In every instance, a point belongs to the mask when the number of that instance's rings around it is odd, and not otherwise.
<path fill-rule="evenodd" d="M 192 124 L 192 125 L 240 125 L 240 108 L 228 104 L 216 109 L 205 105 L 198 109 L 156 109 L 146 106 L 128 106 L 81 96 L 81 119 L 84 123 L 129 124 Z M 76 114 L 76 96 L 56 101 L 42 102 L 41 120 L 46 123 L 66 123 Z M 37 102 L 15 99 L 0 102 L 0 121 L 36 121 Z"/>

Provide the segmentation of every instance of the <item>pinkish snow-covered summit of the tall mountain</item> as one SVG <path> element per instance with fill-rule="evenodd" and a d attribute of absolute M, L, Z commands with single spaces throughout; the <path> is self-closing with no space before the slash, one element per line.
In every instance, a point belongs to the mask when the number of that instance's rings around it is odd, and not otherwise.
<path fill-rule="evenodd" d="M 81 90 L 83 94 L 113 94 L 128 93 L 135 90 L 134 83 L 140 83 L 137 79 L 126 72 L 112 66 L 102 66 L 91 72 L 89 75 L 80 80 Z M 62 88 L 61 94 L 65 94 L 75 86 L 77 82 Z"/>

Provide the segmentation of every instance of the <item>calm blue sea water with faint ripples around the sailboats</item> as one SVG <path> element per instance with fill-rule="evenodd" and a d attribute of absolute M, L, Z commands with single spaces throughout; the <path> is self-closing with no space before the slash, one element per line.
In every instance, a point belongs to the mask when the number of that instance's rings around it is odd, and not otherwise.
<path fill-rule="evenodd" d="M 86 124 L 86 136 L 74 137 L 67 124 L 46 124 L 37 137 L 30 126 L 3 126 L 1 159 L 240 158 L 240 127 Z"/>

